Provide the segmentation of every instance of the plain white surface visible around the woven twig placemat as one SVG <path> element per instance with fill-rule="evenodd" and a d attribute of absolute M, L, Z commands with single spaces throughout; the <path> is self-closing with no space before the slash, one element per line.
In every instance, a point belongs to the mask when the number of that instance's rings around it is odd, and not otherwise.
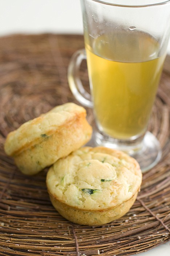
<path fill-rule="evenodd" d="M 80 0 L 0 0 L 0 36 L 44 32 L 83 34 Z M 138 255 L 170 256 L 170 241 Z"/>

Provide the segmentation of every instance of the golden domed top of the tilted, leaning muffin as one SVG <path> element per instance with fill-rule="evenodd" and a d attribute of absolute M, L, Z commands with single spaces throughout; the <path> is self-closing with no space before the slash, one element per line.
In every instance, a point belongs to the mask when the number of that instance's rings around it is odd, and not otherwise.
<path fill-rule="evenodd" d="M 43 141 L 62 125 L 74 121 L 81 115 L 86 116 L 86 110 L 72 102 L 56 106 L 10 132 L 5 141 L 5 152 L 10 156 L 17 155 L 26 148 Z"/>

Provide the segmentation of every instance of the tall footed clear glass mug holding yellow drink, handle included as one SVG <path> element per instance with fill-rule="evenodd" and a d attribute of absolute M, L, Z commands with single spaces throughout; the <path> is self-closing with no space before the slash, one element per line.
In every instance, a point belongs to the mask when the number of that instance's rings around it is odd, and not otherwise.
<path fill-rule="evenodd" d="M 149 170 L 161 158 L 147 131 L 170 37 L 170 1 L 81 0 L 85 49 L 68 67 L 74 97 L 93 108 L 90 146 L 127 152 Z M 87 60 L 90 93 L 79 77 Z"/>

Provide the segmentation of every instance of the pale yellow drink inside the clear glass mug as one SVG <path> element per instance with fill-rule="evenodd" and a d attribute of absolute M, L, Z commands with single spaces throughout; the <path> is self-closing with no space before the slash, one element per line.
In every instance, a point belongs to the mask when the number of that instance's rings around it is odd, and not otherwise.
<path fill-rule="evenodd" d="M 85 48 L 100 130 L 117 139 L 143 134 L 165 59 L 158 57 L 158 42 L 140 31 L 120 31 L 85 40 Z"/>

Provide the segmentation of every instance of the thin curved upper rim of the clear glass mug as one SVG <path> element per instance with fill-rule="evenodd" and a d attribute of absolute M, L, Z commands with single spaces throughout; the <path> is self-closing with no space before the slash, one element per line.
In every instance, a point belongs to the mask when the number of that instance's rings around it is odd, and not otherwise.
<path fill-rule="evenodd" d="M 163 4 L 168 4 L 170 3 L 170 0 L 158 2 L 158 3 L 148 3 L 148 4 L 141 4 L 141 5 L 129 5 L 129 4 L 116 4 L 116 3 L 110 3 L 109 1 L 104 2 L 102 0 L 91 0 L 93 2 L 101 3 L 101 4 L 106 4 L 106 5 L 113 5 L 113 6 L 119 6 L 119 7 L 131 7 L 131 8 L 140 8 L 140 7 L 149 7 L 149 6 L 154 6 L 154 5 L 163 5 Z"/>

